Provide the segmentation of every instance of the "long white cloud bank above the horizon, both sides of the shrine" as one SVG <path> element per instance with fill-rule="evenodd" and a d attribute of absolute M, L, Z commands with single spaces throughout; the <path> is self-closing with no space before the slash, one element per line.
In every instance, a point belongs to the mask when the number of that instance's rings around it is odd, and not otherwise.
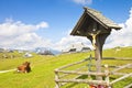
<path fill-rule="evenodd" d="M 124 23 L 120 23 L 121 30 L 112 30 L 108 36 L 105 48 L 116 46 L 132 46 L 132 9 L 130 10 L 129 19 Z M 84 43 L 89 47 L 91 43 L 86 37 L 70 36 L 68 33 L 61 38 L 61 41 L 53 43 L 54 38 L 44 38 L 36 34 L 40 29 L 48 28 L 47 22 L 40 22 L 37 24 L 25 24 L 21 21 L 13 21 L 7 19 L 6 22 L 0 23 L 0 47 L 7 48 L 26 48 L 33 50 L 35 47 L 50 47 L 62 51 L 72 44 Z"/>

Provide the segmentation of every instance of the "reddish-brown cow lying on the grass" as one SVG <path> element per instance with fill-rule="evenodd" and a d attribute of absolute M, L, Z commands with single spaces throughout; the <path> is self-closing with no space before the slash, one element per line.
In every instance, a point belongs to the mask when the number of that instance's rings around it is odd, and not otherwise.
<path fill-rule="evenodd" d="M 29 62 L 23 63 L 21 66 L 18 67 L 18 72 L 30 73 L 31 72 L 30 63 Z"/>

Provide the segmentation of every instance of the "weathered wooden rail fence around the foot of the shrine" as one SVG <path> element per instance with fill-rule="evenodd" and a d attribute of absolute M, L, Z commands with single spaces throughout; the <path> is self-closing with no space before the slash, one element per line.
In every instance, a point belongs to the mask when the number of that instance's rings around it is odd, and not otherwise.
<path fill-rule="evenodd" d="M 80 68 L 77 68 L 75 70 L 66 70 L 68 67 L 72 67 L 72 66 L 75 66 L 75 65 L 78 65 L 78 64 L 82 64 L 87 61 L 88 61 L 88 58 L 55 69 L 55 82 L 56 82 L 55 88 L 61 88 L 62 86 L 64 86 L 68 82 L 88 84 L 88 85 L 96 85 L 96 86 L 101 85 L 101 86 L 105 86 L 106 88 L 108 88 L 108 87 L 110 88 L 110 87 L 112 87 L 112 85 L 114 82 L 132 76 L 132 73 L 130 73 L 130 74 L 117 73 L 118 70 L 123 69 L 125 67 L 132 67 L 132 64 L 119 66 L 116 69 L 113 69 L 112 72 L 109 70 L 108 65 L 105 65 L 103 66 L 105 67 L 103 73 L 96 73 L 96 72 L 88 72 L 88 70 L 82 72 L 81 68 L 88 67 L 86 65 L 81 66 Z M 112 66 L 110 66 L 110 67 L 112 67 Z M 65 78 L 66 76 L 69 76 L 69 75 L 77 75 L 77 76 L 74 77 L 74 78 Z M 78 79 L 78 77 L 80 77 L 82 75 L 101 76 L 101 77 L 105 77 L 105 79 L 103 80 Z M 122 77 L 110 81 L 110 78 L 109 78 L 110 75 L 122 75 Z M 132 86 L 132 85 L 128 85 L 125 88 L 129 88 L 130 86 Z"/>

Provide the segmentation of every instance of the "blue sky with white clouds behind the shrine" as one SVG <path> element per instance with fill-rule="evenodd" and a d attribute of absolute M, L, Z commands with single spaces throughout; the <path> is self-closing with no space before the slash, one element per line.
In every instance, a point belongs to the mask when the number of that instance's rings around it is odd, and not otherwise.
<path fill-rule="evenodd" d="M 82 7 L 101 11 L 123 29 L 128 29 L 124 26 L 128 20 L 131 22 L 131 0 L 0 0 L 0 47 L 41 46 L 61 51 L 78 41 L 90 46 L 86 38 L 68 35 L 84 12 Z M 114 43 L 109 40 L 108 47 Z"/>

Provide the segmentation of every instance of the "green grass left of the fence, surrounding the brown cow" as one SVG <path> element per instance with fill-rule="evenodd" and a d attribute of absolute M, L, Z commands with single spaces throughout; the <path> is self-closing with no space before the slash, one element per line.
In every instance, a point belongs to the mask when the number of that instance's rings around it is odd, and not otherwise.
<path fill-rule="evenodd" d="M 7 66 L 9 69 L 12 68 L 10 67 L 9 62 L 16 67 L 16 63 L 29 61 L 31 62 L 32 72 L 29 74 L 14 74 L 12 72 L 0 74 L 0 88 L 54 88 L 55 68 L 86 57 L 87 53 L 59 56 L 35 56 L 33 58 L 15 58 L 6 61 L 2 59 L 1 64 L 6 67 L 3 66 L 1 69 L 7 69 Z M 7 82 L 10 86 L 7 85 Z"/>

